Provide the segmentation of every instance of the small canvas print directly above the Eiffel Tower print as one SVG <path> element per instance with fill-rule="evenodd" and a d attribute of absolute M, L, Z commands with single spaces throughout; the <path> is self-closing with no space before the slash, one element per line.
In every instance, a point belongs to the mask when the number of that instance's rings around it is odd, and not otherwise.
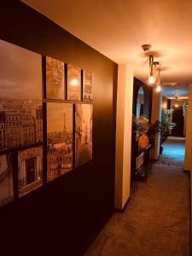
<path fill-rule="evenodd" d="M 46 56 L 46 97 L 64 99 L 64 63 Z"/>

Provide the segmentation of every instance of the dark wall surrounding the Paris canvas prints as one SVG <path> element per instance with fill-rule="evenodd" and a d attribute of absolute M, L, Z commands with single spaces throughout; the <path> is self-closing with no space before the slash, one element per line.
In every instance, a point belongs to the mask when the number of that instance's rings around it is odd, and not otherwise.
<path fill-rule="evenodd" d="M 93 160 L 0 211 L 1 252 L 79 255 L 113 213 L 117 64 L 19 1 L 0 38 L 94 73 Z"/>

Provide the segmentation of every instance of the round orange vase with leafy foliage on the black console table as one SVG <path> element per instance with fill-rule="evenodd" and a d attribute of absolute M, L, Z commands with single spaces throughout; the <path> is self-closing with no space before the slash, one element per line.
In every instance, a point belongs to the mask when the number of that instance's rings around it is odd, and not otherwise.
<path fill-rule="evenodd" d="M 149 141 L 146 133 L 148 132 L 150 125 L 147 117 L 141 115 L 139 117 L 133 117 L 133 131 L 136 133 L 136 139 L 138 139 L 139 148 L 147 148 Z M 139 138 L 137 138 L 139 136 Z"/>

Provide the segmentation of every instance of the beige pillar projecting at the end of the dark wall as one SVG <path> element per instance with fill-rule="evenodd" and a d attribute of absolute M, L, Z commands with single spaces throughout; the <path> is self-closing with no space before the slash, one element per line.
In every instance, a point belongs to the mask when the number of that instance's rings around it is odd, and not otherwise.
<path fill-rule="evenodd" d="M 118 70 L 115 208 L 123 209 L 130 198 L 131 186 L 131 126 L 132 126 L 133 69 L 120 64 Z"/>

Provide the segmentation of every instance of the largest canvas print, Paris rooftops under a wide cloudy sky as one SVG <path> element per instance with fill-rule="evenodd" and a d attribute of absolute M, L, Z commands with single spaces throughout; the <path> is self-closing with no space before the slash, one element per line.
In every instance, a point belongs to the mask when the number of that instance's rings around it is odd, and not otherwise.
<path fill-rule="evenodd" d="M 0 59 L 0 151 L 41 143 L 41 55 L 0 40 Z"/>

